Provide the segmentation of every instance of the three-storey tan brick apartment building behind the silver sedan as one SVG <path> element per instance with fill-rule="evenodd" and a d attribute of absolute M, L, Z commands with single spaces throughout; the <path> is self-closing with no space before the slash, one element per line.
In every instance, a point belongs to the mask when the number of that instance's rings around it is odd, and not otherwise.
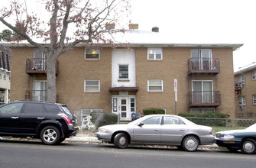
<path fill-rule="evenodd" d="M 173 44 L 160 33 L 136 29 L 115 41 L 115 49 L 80 44 L 58 59 L 57 102 L 81 121 L 92 111 L 119 113 L 121 121 L 145 108 L 175 114 L 174 79 L 177 113 L 235 117 L 233 51 L 242 44 Z M 10 47 L 11 101 L 46 99 L 44 54 L 29 44 Z"/>

